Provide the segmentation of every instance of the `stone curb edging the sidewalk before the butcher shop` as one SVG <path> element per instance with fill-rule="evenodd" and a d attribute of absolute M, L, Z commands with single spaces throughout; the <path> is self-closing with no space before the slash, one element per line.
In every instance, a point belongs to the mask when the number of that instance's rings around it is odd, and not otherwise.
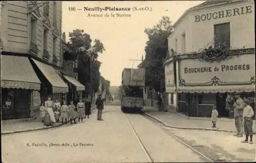
<path fill-rule="evenodd" d="M 178 126 L 170 126 L 168 124 L 166 124 L 165 122 L 159 120 L 158 118 L 155 118 L 154 116 L 148 114 L 148 113 L 145 113 L 148 117 L 151 117 L 152 119 L 158 121 L 159 123 L 163 124 L 164 126 L 166 127 L 169 127 L 169 128 L 177 128 L 177 129 L 188 129 L 188 130 L 208 130 L 208 131 L 222 131 L 222 132 L 234 132 L 236 133 L 236 131 L 229 131 L 229 130 L 223 130 L 223 129 L 210 129 L 210 128 L 202 128 L 202 127 L 178 127 Z"/>

